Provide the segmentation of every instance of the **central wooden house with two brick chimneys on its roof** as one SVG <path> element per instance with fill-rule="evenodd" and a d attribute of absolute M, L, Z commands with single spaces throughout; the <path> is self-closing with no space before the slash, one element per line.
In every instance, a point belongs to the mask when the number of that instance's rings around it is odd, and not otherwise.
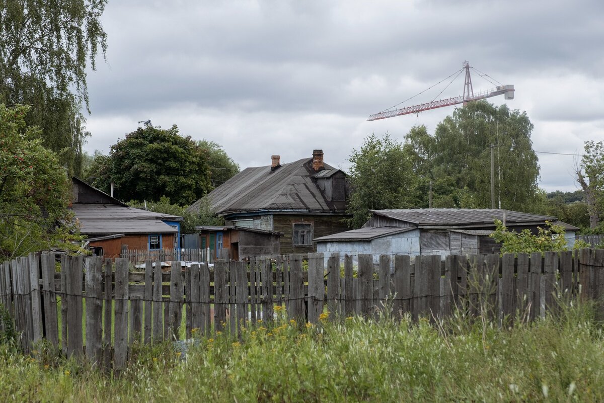
<path fill-rule="evenodd" d="M 282 254 L 314 252 L 313 238 L 347 229 L 346 174 L 324 163 L 323 150 L 283 165 L 278 155 L 271 160 L 246 168 L 206 196 L 226 226 L 282 233 Z M 188 211 L 198 212 L 201 203 Z"/>

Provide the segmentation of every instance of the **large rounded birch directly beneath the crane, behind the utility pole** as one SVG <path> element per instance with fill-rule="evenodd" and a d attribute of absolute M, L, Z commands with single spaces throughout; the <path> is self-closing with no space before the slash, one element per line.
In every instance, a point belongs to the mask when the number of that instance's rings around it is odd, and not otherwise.
<path fill-rule="evenodd" d="M 432 173 L 467 188 L 476 208 L 491 206 L 491 145 L 495 147 L 495 206 L 531 209 L 538 191 L 538 159 L 532 148 L 533 124 L 525 112 L 486 101 L 467 104 L 435 131 Z M 451 206 L 453 207 L 453 206 Z"/>

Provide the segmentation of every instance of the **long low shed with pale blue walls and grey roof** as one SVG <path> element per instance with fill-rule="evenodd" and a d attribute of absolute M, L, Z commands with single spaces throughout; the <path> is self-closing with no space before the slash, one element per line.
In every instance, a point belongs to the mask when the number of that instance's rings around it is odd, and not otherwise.
<path fill-rule="evenodd" d="M 569 247 L 573 247 L 577 227 L 556 217 L 502 209 L 397 209 L 371 210 L 371 217 L 360 229 L 315 238 L 317 252 L 329 255 L 370 253 L 379 255 L 475 255 L 500 253 L 501 246 L 489 235 L 495 220 L 504 221 L 509 230 L 530 229 L 538 233 L 545 221 L 565 228 Z"/>

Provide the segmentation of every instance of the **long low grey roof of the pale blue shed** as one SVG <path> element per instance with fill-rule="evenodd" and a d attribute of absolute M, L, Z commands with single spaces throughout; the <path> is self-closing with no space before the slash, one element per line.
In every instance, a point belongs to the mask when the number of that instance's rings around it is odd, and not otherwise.
<path fill-rule="evenodd" d="M 506 214 L 506 224 L 543 223 L 545 220 L 557 220 L 556 217 L 551 217 L 550 215 L 528 214 L 503 209 L 396 209 L 370 211 L 375 215 L 382 215 L 419 226 L 492 225 L 495 218 L 503 220 L 504 212 Z"/>

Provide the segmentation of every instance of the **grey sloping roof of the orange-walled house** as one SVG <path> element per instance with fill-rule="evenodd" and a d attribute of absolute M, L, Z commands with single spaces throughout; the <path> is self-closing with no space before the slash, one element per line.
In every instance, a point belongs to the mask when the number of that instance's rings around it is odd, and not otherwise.
<path fill-rule="evenodd" d="M 74 203 L 71 207 L 83 234 L 174 233 L 161 220 L 181 221 L 182 217 L 106 203 Z"/>

